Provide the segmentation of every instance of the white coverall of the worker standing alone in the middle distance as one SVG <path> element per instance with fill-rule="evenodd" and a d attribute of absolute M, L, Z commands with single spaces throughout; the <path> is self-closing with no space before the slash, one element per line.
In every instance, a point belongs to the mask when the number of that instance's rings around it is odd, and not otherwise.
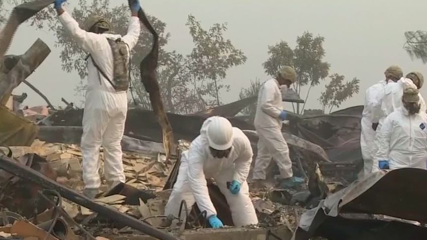
<path fill-rule="evenodd" d="M 282 135 L 279 114 L 283 110 L 282 94 L 276 79 L 266 81 L 258 95 L 255 129 L 259 137 L 258 154 L 253 170 L 253 180 L 265 179 L 271 158 L 276 162 L 281 178 L 292 177 L 289 148 Z"/>

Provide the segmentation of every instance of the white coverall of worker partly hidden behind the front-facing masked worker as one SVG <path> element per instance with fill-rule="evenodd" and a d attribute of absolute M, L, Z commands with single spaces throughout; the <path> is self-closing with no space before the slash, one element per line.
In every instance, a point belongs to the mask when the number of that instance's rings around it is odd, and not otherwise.
<path fill-rule="evenodd" d="M 383 100 L 383 109 L 387 115 L 391 114 L 397 108 L 403 107 L 402 96 L 403 90 L 406 87 L 417 88 L 411 79 L 404 77 L 400 78 L 395 84 L 391 84 L 390 90 L 388 90 L 389 87 L 386 88 L 387 92 Z M 424 98 L 421 96 L 421 93 L 418 93 L 418 96 L 419 104 L 421 106 L 419 113 L 425 114 L 426 107 Z"/>

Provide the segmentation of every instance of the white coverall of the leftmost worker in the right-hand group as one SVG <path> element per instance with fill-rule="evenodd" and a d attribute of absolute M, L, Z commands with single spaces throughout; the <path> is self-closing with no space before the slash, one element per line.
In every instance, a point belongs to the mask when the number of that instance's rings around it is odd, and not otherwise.
<path fill-rule="evenodd" d="M 362 150 L 364 174 L 371 173 L 372 171 L 372 146 L 375 141 L 375 131 L 372 129 L 372 123 L 374 123 L 374 121 L 379 121 L 380 118 L 378 113 L 377 115 L 372 113 L 381 106 L 381 98 L 384 95 L 383 92 L 385 85 L 386 81 L 382 80 L 370 86 L 366 90 L 365 105 L 363 107 L 361 121 L 362 131 L 360 136 L 360 148 Z"/>

